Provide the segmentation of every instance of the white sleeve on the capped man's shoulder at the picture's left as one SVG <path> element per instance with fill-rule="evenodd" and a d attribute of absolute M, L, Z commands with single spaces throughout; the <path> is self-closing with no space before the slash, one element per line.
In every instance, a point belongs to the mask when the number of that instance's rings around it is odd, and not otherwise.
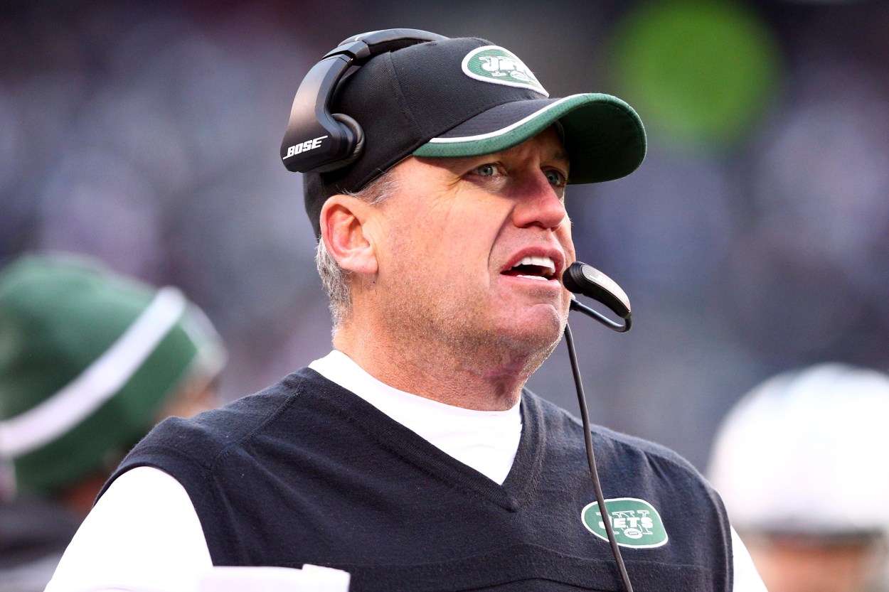
<path fill-rule="evenodd" d="M 185 488 L 156 468 L 117 477 L 92 508 L 45 592 L 191 592 L 212 566 Z"/>

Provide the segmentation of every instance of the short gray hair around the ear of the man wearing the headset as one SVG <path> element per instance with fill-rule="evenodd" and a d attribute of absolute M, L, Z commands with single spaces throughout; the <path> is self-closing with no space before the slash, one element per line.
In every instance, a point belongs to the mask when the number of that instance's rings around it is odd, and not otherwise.
<path fill-rule="evenodd" d="M 391 172 L 392 169 L 384 172 L 360 191 L 344 191 L 343 194 L 357 197 L 365 204 L 382 204 L 398 188 Z M 340 267 L 340 264 L 327 251 L 327 246 L 322 238 L 318 239 L 315 266 L 318 269 L 318 275 L 321 276 L 321 283 L 324 284 L 324 292 L 327 292 L 327 298 L 330 300 L 333 331 L 336 331 L 348 319 L 352 309 L 352 272 Z"/>

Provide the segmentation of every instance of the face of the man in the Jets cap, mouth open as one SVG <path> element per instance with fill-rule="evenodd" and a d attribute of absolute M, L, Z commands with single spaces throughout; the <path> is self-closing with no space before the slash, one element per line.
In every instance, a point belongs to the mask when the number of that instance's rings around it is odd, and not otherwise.
<path fill-rule="evenodd" d="M 412 157 L 393 172 L 398 189 L 371 230 L 390 332 L 499 364 L 542 362 L 565 326 L 559 278 L 574 260 L 556 132 L 493 155 Z"/>

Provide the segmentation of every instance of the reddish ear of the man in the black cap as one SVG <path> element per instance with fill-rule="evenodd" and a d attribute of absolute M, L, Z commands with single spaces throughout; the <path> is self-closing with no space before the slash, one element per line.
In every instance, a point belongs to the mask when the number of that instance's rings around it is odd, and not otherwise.
<path fill-rule="evenodd" d="M 321 208 L 321 240 L 340 267 L 356 274 L 377 273 L 373 242 L 365 232 L 372 206 L 357 197 L 336 195 Z"/>

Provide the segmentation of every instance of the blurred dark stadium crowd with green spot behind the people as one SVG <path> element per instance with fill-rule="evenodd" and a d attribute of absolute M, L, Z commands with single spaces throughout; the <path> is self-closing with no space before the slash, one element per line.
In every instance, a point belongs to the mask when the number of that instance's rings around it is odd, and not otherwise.
<path fill-rule="evenodd" d="M 569 188 L 581 260 L 634 328 L 573 328 L 593 420 L 703 468 L 775 372 L 889 367 L 889 3 L 589 0 L 7 2 L 0 263 L 64 250 L 179 286 L 228 347 L 220 397 L 330 348 L 300 175 L 301 77 L 377 28 L 482 36 L 551 96 L 615 94 L 649 134 L 623 180 Z M 532 379 L 576 409 L 564 346 Z"/>

